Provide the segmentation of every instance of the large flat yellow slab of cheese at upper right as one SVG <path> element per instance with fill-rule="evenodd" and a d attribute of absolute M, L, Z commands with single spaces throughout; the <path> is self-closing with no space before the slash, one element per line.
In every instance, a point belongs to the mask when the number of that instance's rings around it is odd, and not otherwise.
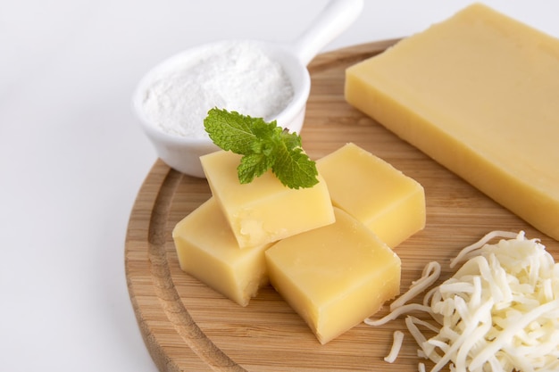
<path fill-rule="evenodd" d="M 346 70 L 346 100 L 559 239 L 559 40 L 485 5 Z"/>

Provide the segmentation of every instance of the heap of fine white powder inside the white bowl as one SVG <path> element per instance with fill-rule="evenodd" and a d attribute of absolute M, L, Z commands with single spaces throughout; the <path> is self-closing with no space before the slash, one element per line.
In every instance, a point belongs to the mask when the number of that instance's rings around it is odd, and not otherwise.
<path fill-rule="evenodd" d="M 250 42 L 218 43 L 156 79 L 146 92 L 147 119 L 164 131 L 204 137 L 213 107 L 271 120 L 293 97 L 278 62 Z"/>

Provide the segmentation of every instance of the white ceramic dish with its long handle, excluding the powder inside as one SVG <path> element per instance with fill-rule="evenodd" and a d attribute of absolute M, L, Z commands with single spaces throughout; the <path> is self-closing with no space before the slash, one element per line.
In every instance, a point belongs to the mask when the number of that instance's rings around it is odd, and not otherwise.
<path fill-rule="evenodd" d="M 321 49 L 334 37 L 337 37 L 355 21 L 363 9 L 363 0 L 332 0 L 314 19 L 308 29 L 300 37 L 290 43 L 269 43 L 248 40 L 260 47 L 272 60 L 279 62 L 288 75 L 294 95 L 285 109 L 272 120 L 277 120 L 282 128 L 299 132 L 305 119 L 306 102 L 311 90 L 311 78 L 306 66 Z M 238 40 L 221 41 L 219 43 L 233 43 Z M 217 43 L 213 43 L 217 44 Z M 180 172 L 204 178 L 204 171 L 200 163 L 200 156 L 218 150 L 209 138 L 191 138 L 176 136 L 163 131 L 148 120 L 143 103 L 154 79 L 160 78 L 169 70 L 176 69 L 185 61 L 196 58 L 201 50 L 212 45 L 201 45 L 176 54 L 155 66 L 140 80 L 133 96 L 133 106 L 142 128 L 152 141 L 155 151 L 167 165 Z M 211 107 L 207 108 L 208 110 Z M 240 112 L 245 113 L 245 112 Z M 200 123 L 203 126 L 203 123 Z"/>

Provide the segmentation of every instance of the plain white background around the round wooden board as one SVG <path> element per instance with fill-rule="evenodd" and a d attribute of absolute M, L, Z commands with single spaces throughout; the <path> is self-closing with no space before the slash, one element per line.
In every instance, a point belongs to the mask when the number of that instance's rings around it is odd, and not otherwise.
<path fill-rule="evenodd" d="M 124 276 L 156 159 L 131 93 L 192 45 L 292 40 L 326 0 L 0 1 L 0 370 L 154 372 Z M 559 2 L 485 3 L 559 37 Z M 326 49 L 404 37 L 467 4 L 365 0 Z"/>

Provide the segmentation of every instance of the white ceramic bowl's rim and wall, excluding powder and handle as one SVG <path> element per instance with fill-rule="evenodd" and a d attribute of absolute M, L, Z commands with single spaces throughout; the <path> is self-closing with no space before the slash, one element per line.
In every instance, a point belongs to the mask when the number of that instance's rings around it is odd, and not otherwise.
<path fill-rule="evenodd" d="M 233 42 L 230 41 L 230 43 Z M 294 54 L 290 53 L 284 45 L 261 41 L 249 42 L 258 45 L 272 61 L 279 62 L 288 75 L 294 90 L 293 98 L 284 110 L 271 120 L 277 120 L 278 126 L 281 128 L 288 128 L 290 132 L 299 133 L 303 127 L 306 101 L 311 89 L 311 79 L 306 66 Z M 228 42 L 221 41 L 217 43 Z M 159 79 L 170 70 L 176 70 L 181 64 L 198 58 L 198 55 L 209 47 L 211 48 L 213 45 L 200 45 L 173 55 L 171 58 L 161 62 L 154 69 L 148 71 L 144 78 L 140 80 L 133 95 L 134 112 L 136 112 L 146 135 L 153 143 L 159 158 L 171 168 L 198 178 L 204 178 L 204 170 L 199 160 L 200 156 L 217 151 L 219 148 L 213 144 L 209 137 L 194 138 L 167 133 L 148 119 L 143 103 L 146 99 L 146 92 L 156 79 Z M 211 108 L 208 107 L 207 109 Z M 246 114 L 246 112 L 240 113 Z M 200 125 L 203 126 L 204 123 L 200 123 Z"/>

